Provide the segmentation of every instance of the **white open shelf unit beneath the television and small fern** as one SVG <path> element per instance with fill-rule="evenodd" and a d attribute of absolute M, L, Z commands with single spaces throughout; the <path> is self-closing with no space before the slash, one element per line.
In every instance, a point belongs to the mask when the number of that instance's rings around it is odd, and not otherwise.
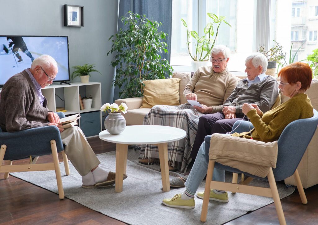
<path fill-rule="evenodd" d="M 102 123 L 101 123 L 101 89 L 99 82 L 89 82 L 89 83 L 81 83 L 81 82 L 74 82 L 71 85 L 63 84 L 63 85 L 50 85 L 47 86 L 42 90 L 42 94 L 47 99 L 47 107 L 50 111 L 56 112 L 56 107 L 63 107 L 66 109 L 65 115 L 71 115 L 79 113 L 80 116 L 87 115 L 85 113 L 90 112 L 99 112 L 99 125 L 98 127 L 89 127 L 89 129 L 96 129 L 95 135 L 88 136 L 88 137 L 96 137 L 98 133 L 102 130 Z M 79 110 L 79 95 L 83 98 L 86 97 L 93 97 L 92 108 L 91 109 L 84 109 Z M 59 98 L 63 99 L 60 100 Z M 82 114 L 84 113 L 84 114 Z M 81 115 L 82 114 L 82 115 Z M 95 113 L 96 114 L 96 113 Z M 87 116 L 86 116 L 87 118 Z M 88 116 L 89 118 L 89 116 Z M 86 127 L 84 124 L 81 123 L 81 119 L 79 118 L 79 127 Z M 82 128 L 84 133 L 87 133 Z M 91 133 L 91 131 L 89 131 Z"/>

